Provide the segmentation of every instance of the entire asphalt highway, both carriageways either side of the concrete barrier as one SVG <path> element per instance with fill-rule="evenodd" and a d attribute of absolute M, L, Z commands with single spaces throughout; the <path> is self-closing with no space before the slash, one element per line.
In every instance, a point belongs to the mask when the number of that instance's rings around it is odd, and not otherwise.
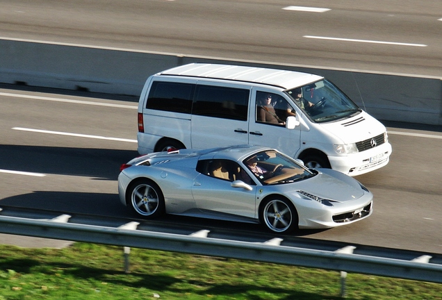
<path fill-rule="evenodd" d="M 296 5 L 304 8 L 284 9 L 293 1 L 283 0 L 0 0 L 0 35 L 441 77 L 442 1 Z M 116 179 L 120 164 L 137 155 L 132 99 L 0 92 L 0 207 L 129 217 Z M 375 213 L 302 235 L 442 253 L 441 128 L 387 125 L 391 163 L 358 177 L 375 194 Z"/>

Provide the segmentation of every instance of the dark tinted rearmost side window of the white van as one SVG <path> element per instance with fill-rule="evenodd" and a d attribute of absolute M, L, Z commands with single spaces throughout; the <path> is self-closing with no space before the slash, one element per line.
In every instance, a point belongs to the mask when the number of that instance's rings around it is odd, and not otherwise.
<path fill-rule="evenodd" d="M 146 108 L 190 114 L 194 90 L 195 84 L 154 81 Z"/>

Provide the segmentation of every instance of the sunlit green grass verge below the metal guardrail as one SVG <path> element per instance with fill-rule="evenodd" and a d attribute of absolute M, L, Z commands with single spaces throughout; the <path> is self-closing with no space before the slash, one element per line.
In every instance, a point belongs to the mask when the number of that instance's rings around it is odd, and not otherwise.
<path fill-rule="evenodd" d="M 442 285 L 348 274 L 346 299 L 442 299 Z M 341 299 L 339 272 L 75 243 L 65 249 L 0 245 L 3 299 Z"/>

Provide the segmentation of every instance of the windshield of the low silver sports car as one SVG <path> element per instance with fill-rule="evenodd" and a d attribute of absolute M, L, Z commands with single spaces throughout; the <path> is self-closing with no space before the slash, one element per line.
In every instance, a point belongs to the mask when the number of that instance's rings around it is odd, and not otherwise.
<path fill-rule="evenodd" d="M 255 153 L 243 163 L 263 185 L 293 183 L 315 176 L 296 160 L 275 150 Z"/>

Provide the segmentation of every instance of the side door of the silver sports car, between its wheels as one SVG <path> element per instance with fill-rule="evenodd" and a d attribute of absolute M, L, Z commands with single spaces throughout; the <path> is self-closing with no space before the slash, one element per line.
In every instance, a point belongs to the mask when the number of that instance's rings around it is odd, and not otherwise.
<path fill-rule="evenodd" d="M 217 165 L 215 160 L 211 161 Z M 199 210 L 213 214 L 229 214 L 240 217 L 256 218 L 256 185 L 252 190 L 234 188 L 236 178 L 207 171 L 199 174 L 194 181 L 192 194 Z M 219 176 L 219 177 L 216 177 Z M 230 178 L 229 178 L 230 177 Z M 229 219 L 226 216 L 226 219 Z"/>

